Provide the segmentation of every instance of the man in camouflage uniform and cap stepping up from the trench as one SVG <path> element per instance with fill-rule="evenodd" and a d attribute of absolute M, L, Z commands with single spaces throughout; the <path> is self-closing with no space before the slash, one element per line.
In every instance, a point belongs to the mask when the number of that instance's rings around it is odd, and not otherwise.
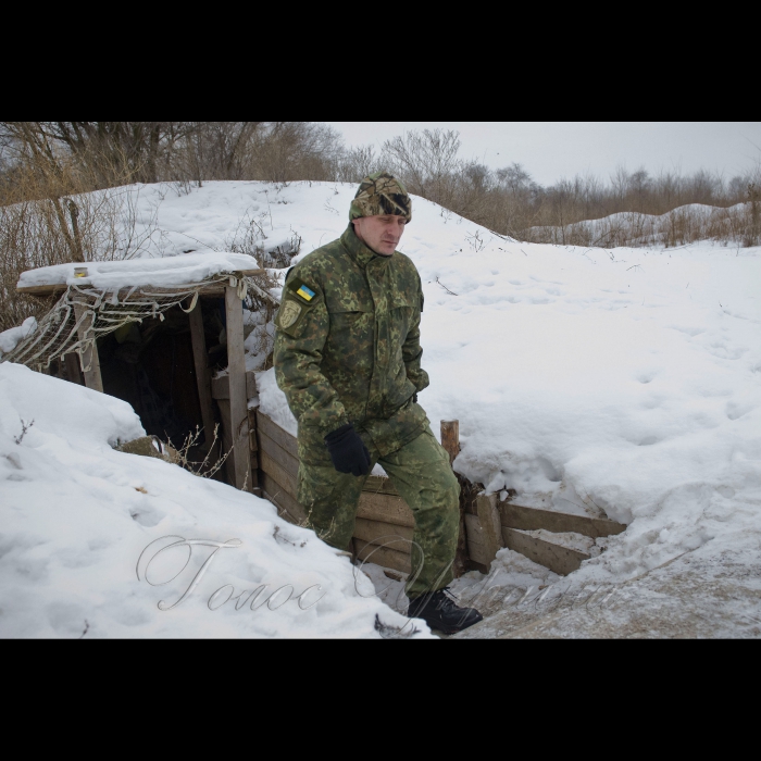
<path fill-rule="evenodd" d="M 298 500 L 309 525 L 347 549 L 362 487 L 379 462 L 412 509 L 409 614 L 448 633 L 481 621 L 445 588 L 457 549 L 459 484 L 417 404 L 423 291 L 396 246 L 410 197 L 385 172 L 362 182 L 344 235 L 294 267 L 275 320 L 275 372 L 299 423 Z M 419 572 L 419 573 L 417 573 Z"/>

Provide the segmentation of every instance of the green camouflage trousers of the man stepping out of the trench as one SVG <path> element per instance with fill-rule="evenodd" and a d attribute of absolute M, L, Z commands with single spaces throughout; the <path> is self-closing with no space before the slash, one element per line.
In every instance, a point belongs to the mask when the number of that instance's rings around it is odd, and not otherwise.
<path fill-rule="evenodd" d="M 452 581 L 460 526 L 460 485 L 449 464 L 449 454 L 429 427 L 396 452 L 379 457 L 371 449 L 370 454 L 373 465 L 379 462 L 389 475 L 415 520 L 408 596 L 417 597 L 446 587 Z M 333 465 L 301 462 L 298 499 L 309 516 L 307 525 L 332 547 L 349 548 L 366 481 L 367 476 L 338 473 Z M 389 537 L 388 546 L 397 545 L 400 549 L 398 545 L 402 541 Z"/>

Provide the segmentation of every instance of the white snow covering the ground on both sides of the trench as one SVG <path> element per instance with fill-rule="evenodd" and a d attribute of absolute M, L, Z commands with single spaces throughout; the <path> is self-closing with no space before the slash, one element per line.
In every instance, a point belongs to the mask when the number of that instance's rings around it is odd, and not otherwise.
<path fill-rule="evenodd" d="M 140 219 L 152 233 L 142 255 L 238 250 L 251 230 L 274 252 L 300 241 L 301 258 L 342 233 L 354 190 L 209 183 L 177 195 L 142 186 Z M 727 554 L 758 557 L 761 249 L 523 244 L 415 198 L 400 250 L 425 292 L 432 385 L 420 402 L 435 432 L 440 420 L 460 421 L 456 469 L 489 491 L 516 490 L 524 504 L 628 524 L 569 578 L 625 584 L 686 556 L 702 567 Z M 5 351 L 14 342 L 2 341 Z M 259 375 L 262 408 L 294 431 L 272 375 Z M 250 497 L 113 452 L 113 437 L 139 433 L 125 404 L 15 366 L 0 366 L 0 383 L 3 636 L 73 636 L 85 619 L 100 636 L 377 636 L 384 609 L 357 595 L 346 559 L 314 538 L 305 549 L 278 541 L 274 511 Z M 35 426 L 16 445 L 20 419 Z M 138 504 L 151 517 L 132 516 Z M 308 536 L 283 531 L 297 545 Z M 135 552 L 141 541 L 199 532 L 257 548 L 250 573 L 235 571 L 236 590 L 262 574 L 284 584 L 303 575 L 329 584 L 335 607 L 289 614 L 289 602 L 247 623 L 225 613 L 233 603 L 213 614 L 205 602 L 159 613 L 148 600 L 169 597 L 138 583 Z M 220 563 L 225 552 L 242 554 L 221 551 Z M 492 581 L 553 583 L 527 562 L 503 550 Z M 457 588 L 464 594 L 477 576 Z M 122 621 L 127 610 L 138 623 Z M 395 615 L 382 613 L 389 624 Z"/>

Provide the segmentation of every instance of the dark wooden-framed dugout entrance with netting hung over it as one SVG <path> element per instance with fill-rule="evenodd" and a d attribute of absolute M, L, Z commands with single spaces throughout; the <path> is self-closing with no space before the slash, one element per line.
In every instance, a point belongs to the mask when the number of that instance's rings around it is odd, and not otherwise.
<path fill-rule="evenodd" d="M 4 359 L 129 402 L 148 433 L 159 438 L 172 438 L 172 433 L 152 431 L 161 425 L 157 420 L 176 423 L 174 433 L 180 437 L 198 426 L 205 438 L 202 456 L 219 426 L 217 451 L 210 460 L 228 453 L 223 479 L 252 491 L 258 486 L 259 464 L 249 429 L 248 399 L 255 396 L 255 388 L 252 374 L 246 374 L 244 300 L 249 278 L 261 274 L 264 271 L 247 270 L 162 289 L 99 290 L 60 284 L 18 288 L 38 298 L 60 299 L 40 321 L 38 332 Z M 152 310 L 146 304 L 152 304 Z M 226 359 L 227 366 L 225 375 L 212 383 L 208 338 L 214 335 L 210 317 L 215 315 L 225 335 L 217 355 L 222 364 Z M 132 342 L 130 330 L 137 334 Z M 126 333 L 120 336 L 121 332 Z M 148 346 L 140 348 L 140 339 Z M 139 372 L 128 377 L 130 366 L 134 370 L 137 364 L 129 362 L 129 348 L 136 346 L 141 354 Z M 214 349 L 220 347 L 212 347 L 212 353 Z M 157 406 L 163 406 L 163 417 L 157 416 Z"/>

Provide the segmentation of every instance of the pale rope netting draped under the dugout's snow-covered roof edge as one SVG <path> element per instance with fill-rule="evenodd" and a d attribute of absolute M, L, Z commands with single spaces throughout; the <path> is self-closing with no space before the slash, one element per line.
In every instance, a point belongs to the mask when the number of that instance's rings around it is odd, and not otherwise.
<path fill-rule="evenodd" d="M 250 277 L 225 274 L 177 288 L 133 286 L 102 289 L 71 285 L 39 321 L 37 329 L 3 354 L 0 362 L 15 362 L 43 372 L 53 361 L 62 360 L 66 354 L 78 354 L 82 370 L 89 372 L 92 347 L 99 338 L 129 323 L 157 317 L 163 322 L 164 312 L 174 307 L 190 313 L 196 309 L 200 291 L 215 284 L 237 288 L 241 301 L 251 288 L 261 298 L 277 303 Z"/>

